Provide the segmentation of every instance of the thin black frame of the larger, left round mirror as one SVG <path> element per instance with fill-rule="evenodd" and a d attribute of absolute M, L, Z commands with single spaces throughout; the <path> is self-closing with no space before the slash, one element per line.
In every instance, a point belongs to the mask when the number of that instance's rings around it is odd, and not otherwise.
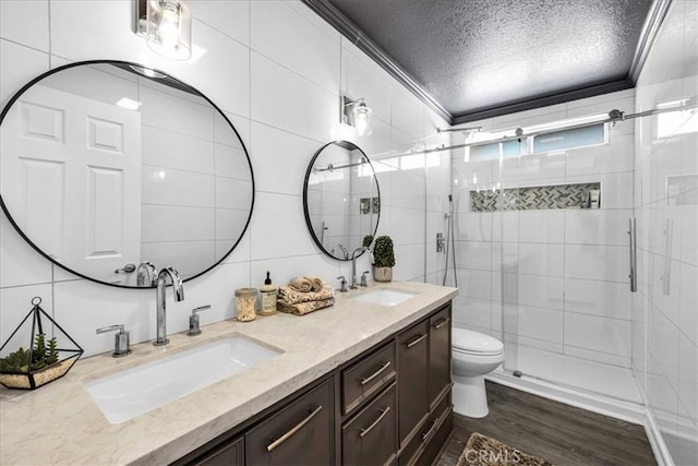
<path fill-rule="evenodd" d="M 14 103 L 22 96 L 22 94 L 24 94 L 26 91 L 28 91 L 34 84 L 40 82 L 41 80 L 58 73 L 59 71 L 63 71 L 70 68 L 75 68 L 75 67 L 82 67 L 82 65 L 91 65 L 91 64 L 112 64 L 112 65 L 117 65 L 117 67 L 140 67 L 140 68 L 145 68 L 145 69 L 149 69 L 153 70 L 156 73 L 161 73 L 165 76 L 167 76 L 167 79 L 170 81 L 170 83 L 172 83 L 174 86 L 181 86 L 184 87 L 189 91 L 191 91 L 193 94 L 195 94 L 196 96 L 203 98 L 204 100 L 206 100 L 216 111 L 218 111 L 218 113 L 220 113 L 220 116 L 224 118 L 224 120 L 228 123 L 228 126 L 230 127 L 230 129 L 234 132 L 234 134 L 238 136 L 238 140 L 240 141 L 240 145 L 242 146 L 242 151 L 244 151 L 244 155 L 248 159 L 248 165 L 250 167 L 250 181 L 252 183 L 252 200 L 250 203 L 250 214 L 248 215 L 248 220 L 245 222 L 244 228 L 242 228 L 241 232 L 240 232 L 240 237 L 238 238 L 238 240 L 232 244 L 232 247 L 230 248 L 230 250 L 228 252 L 226 252 L 218 261 L 216 261 L 213 265 L 210 265 L 209 267 L 205 268 L 204 271 L 192 275 L 188 278 L 185 278 L 183 282 L 191 282 L 194 278 L 197 278 L 202 275 L 204 275 L 205 273 L 209 272 L 210 270 L 215 268 L 216 266 L 218 266 L 222 261 L 226 260 L 226 258 L 228 258 L 228 255 L 230 255 L 230 253 L 236 249 L 236 247 L 240 243 L 240 241 L 242 240 L 242 238 L 244 237 L 244 234 L 246 232 L 248 228 L 250 227 L 250 222 L 252 219 L 252 212 L 254 211 L 254 198 L 255 198 L 255 184 L 254 184 L 254 170 L 252 169 L 252 159 L 250 158 L 250 154 L 248 153 L 248 148 L 244 145 L 244 141 L 242 141 L 242 138 L 240 138 L 240 133 L 238 132 L 238 130 L 236 129 L 236 127 L 232 124 L 232 122 L 228 119 L 228 117 L 226 117 L 226 113 L 222 112 L 222 110 L 213 103 L 213 100 L 210 100 L 208 97 L 206 97 L 201 91 L 198 91 L 197 88 L 184 83 L 181 80 L 178 80 L 177 77 L 173 77 L 172 75 L 170 75 L 169 73 L 165 72 L 165 71 L 160 71 L 158 69 L 154 69 L 151 67 L 145 67 L 143 64 L 140 63 L 134 63 L 134 62 L 130 62 L 130 61 L 123 61 L 123 60 L 86 60 L 86 61 L 77 61 L 77 62 L 73 62 L 73 63 L 69 63 L 69 64 L 64 64 L 58 68 L 55 68 L 52 70 L 49 70 L 45 73 L 41 73 L 40 75 L 34 77 L 32 81 L 29 81 L 28 83 L 26 83 L 24 86 L 22 86 L 22 88 L 20 88 L 20 91 L 17 91 L 12 98 L 8 101 L 8 104 L 4 106 L 4 108 L 2 109 L 2 111 L 0 112 L 0 126 L 2 126 L 2 121 L 4 120 L 5 115 L 10 111 L 10 109 L 12 108 L 12 106 L 14 105 Z M 147 76 L 144 76 L 147 77 Z M 4 203 L 4 200 L 2 199 L 2 192 L 0 191 L 0 207 L 2 207 L 2 212 L 4 213 L 4 215 L 7 216 L 7 218 L 10 220 L 10 224 L 12 224 L 12 226 L 14 227 L 14 229 L 20 234 L 20 236 L 22 238 L 24 238 L 24 240 L 32 247 L 34 248 L 34 250 L 36 250 L 36 252 L 38 252 L 39 254 L 41 254 L 44 258 L 46 258 L 47 260 L 49 260 L 52 264 L 58 265 L 59 267 L 63 268 L 64 271 L 76 275 L 81 278 L 87 279 L 89 282 L 94 282 L 94 283 L 98 283 L 101 285 L 107 285 L 107 286 L 111 286 L 115 288 L 125 288 L 125 289 L 152 289 L 155 288 L 155 285 L 153 286 L 127 286 L 127 285 L 120 285 L 120 284 L 115 284 L 115 283 L 108 283 L 108 282 L 103 282 L 93 277 L 89 277 L 87 275 L 81 274 L 79 272 L 75 272 L 74 270 L 68 267 L 67 265 L 53 260 L 49 254 L 47 254 L 46 252 L 44 252 L 38 246 L 36 246 L 25 234 L 24 231 L 22 231 L 22 229 L 20 228 L 20 226 L 15 223 L 14 218 L 12 218 L 12 215 L 10 215 L 10 211 L 8 210 L 8 206 Z"/>

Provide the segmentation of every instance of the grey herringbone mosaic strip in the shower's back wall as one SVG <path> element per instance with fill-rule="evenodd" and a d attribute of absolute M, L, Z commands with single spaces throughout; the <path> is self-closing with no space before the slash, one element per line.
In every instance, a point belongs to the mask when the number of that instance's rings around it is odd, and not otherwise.
<path fill-rule="evenodd" d="M 589 194 L 594 191 L 600 202 L 598 182 L 470 191 L 470 207 L 472 212 L 588 208 Z"/>

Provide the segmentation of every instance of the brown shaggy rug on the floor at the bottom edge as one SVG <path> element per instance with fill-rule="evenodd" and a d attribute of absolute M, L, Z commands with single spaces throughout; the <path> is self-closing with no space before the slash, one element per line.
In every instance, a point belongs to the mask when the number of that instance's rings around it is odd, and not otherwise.
<path fill-rule="evenodd" d="M 468 439 L 457 466 L 552 466 L 552 464 L 474 432 Z"/>

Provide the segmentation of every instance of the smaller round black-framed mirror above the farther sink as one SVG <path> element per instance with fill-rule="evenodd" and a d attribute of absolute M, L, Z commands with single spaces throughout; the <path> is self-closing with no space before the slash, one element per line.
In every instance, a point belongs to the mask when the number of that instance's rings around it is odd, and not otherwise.
<path fill-rule="evenodd" d="M 350 260 L 364 237 L 375 235 L 381 216 L 378 181 L 369 157 L 348 141 L 321 147 L 305 172 L 303 205 L 315 243 L 334 259 Z"/>

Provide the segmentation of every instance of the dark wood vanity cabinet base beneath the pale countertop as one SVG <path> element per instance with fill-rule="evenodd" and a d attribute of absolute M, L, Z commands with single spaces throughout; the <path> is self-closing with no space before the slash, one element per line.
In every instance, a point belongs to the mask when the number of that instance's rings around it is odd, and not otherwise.
<path fill-rule="evenodd" d="M 450 303 L 178 465 L 431 464 L 453 430 Z"/>

